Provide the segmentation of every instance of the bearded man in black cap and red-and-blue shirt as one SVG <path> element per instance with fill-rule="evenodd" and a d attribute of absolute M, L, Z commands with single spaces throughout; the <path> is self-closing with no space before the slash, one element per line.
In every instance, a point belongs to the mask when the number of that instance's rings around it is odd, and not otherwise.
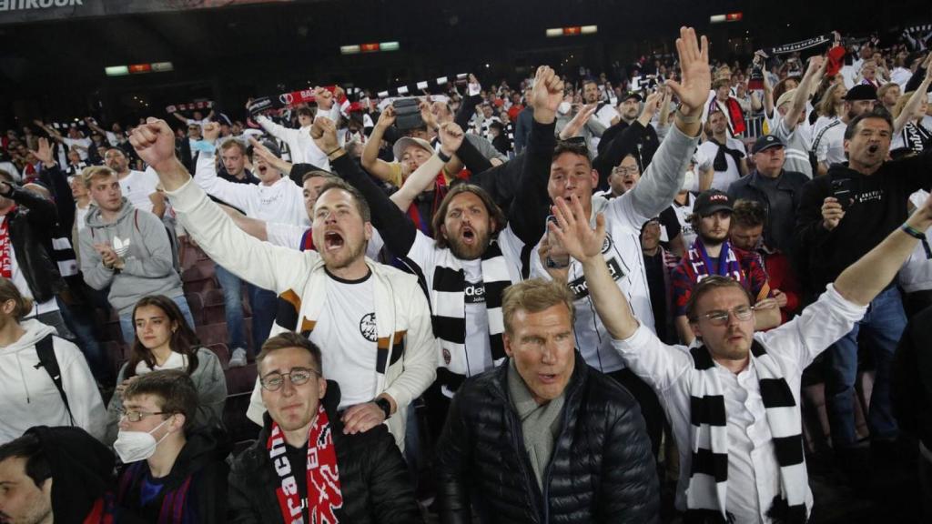
<path fill-rule="evenodd" d="M 733 247 L 728 240 L 732 223 L 732 200 L 726 193 L 709 189 L 696 199 L 692 227 L 699 237 L 673 270 L 673 300 L 677 307 L 679 340 L 691 344 L 695 335 L 690 328 L 687 306 L 696 284 L 719 275 L 732 278 L 754 297 L 755 328 L 768 329 L 780 324 L 780 310 L 767 283 L 767 273 L 757 254 Z"/>

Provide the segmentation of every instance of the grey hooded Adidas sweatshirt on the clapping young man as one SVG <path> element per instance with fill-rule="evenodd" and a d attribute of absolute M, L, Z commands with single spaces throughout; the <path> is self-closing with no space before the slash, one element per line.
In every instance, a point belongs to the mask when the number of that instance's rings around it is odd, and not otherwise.
<path fill-rule="evenodd" d="M 101 209 L 92 207 L 87 223 L 78 235 L 84 281 L 97 290 L 109 285 L 110 305 L 119 314 L 132 312 L 143 296 L 184 295 L 168 232 L 155 214 L 132 207 L 124 198 L 116 221 L 104 222 Z M 97 243 L 111 245 L 126 267 L 119 271 L 103 267 L 101 254 L 94 249 Z"/>

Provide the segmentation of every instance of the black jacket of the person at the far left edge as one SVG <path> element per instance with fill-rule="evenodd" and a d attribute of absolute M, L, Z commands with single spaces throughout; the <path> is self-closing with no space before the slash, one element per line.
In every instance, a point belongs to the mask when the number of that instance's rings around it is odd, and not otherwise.
<path fill-rule="evenodd" d="M 16 263 L 35 301 L 45 302 L 64 289 L 62 274 L 49 255 L 58 227 L 55 204 L 18 186 L 10 186 L 4 196 L 17 204 L 16 211 L 7 214 Z"/>

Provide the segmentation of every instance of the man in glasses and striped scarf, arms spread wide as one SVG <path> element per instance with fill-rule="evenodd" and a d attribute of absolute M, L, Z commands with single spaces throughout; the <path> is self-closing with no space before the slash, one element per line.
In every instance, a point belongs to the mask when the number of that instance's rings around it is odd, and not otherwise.
<path fill-rule="evenodd" d="M 803 523 L 812 508 L 802 449 L 802 370 L 847 334 L 890 283 L 921 231 L 932 199 L 867 255 L 844 269 L 794 320 L 754 332 L 745 288 L 711 276 L 692 292 L 688 316 L 702 344 L 661 342 L 611 284 L 601 255 L 605 218 L 589 226 L 577 197 L 557 202 L 551 231 L 583 261 L 596 311 L 615 349 L 664 397 L 679 448 L 677 507 L 685 522 Z"/>

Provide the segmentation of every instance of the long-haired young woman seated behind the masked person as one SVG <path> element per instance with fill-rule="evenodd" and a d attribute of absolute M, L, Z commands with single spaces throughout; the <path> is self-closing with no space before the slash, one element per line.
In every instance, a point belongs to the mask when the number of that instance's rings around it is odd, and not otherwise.
<path fill-rule="evenodd" d="M 212 351 L 199 345 L 194 329 L 171 298 L 145 296 L 132 311 L 136 328 L 130 360 L 117 376 L 117 389 L 107 407 L 107 438 L 117 439 L 122 393 L 140 375 L 161 369 L 183 369 L 198 389 L 198 427 L 220 424 L 226 401 L 226 378 L 220 360 Z"/>

